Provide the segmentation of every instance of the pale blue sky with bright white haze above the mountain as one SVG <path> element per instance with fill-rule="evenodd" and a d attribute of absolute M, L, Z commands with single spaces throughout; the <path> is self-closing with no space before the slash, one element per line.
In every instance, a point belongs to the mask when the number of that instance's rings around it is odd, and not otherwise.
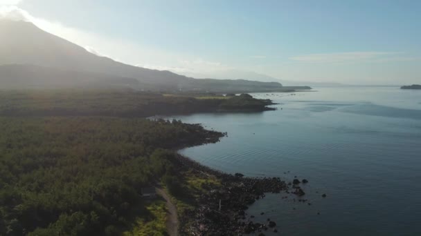
<path fill-rule="evenodd" d="M 0 17 L 134 66 L 348 84 L 421 83 L 420 12 L 418 0 L 0 0 Z"/>

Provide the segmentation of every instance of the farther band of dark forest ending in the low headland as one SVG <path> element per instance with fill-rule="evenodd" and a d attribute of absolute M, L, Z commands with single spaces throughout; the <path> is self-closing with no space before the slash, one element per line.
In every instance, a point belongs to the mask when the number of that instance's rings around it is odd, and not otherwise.
<path fill-rule="evenodd" d="M 105 115 L 150 117 L 192 112 L 271 110 L 249 95 L 162 95 L 133 90 L 0 90 L 0 115 Z"/>

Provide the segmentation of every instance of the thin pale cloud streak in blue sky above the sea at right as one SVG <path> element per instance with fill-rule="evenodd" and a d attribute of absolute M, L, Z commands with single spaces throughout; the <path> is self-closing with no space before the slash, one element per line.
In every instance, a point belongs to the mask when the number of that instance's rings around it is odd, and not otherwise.
<path fill-rule="evenodd" d="M 309 63 L 343 63 L 359 61 L 375 61 L 379 59 L 391 59 L 391 56 L 402 54 L 402 52 L 339 52 L 325 54 L 310 54 L 291 57 L 294 61 Z"/>

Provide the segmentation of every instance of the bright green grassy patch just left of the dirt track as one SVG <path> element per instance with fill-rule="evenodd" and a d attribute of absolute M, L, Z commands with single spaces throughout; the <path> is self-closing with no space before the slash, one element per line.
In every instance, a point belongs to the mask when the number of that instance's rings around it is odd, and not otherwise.
<path fill-rule="evenodd" d="M 124 236 L 161 236 L 168 235 L 166 227 L 167 208 L 165 201 L 152 201 L 146 209 L 150 212 L 150 217 L 136 218 L 133 228 L 123 233 Z"/>

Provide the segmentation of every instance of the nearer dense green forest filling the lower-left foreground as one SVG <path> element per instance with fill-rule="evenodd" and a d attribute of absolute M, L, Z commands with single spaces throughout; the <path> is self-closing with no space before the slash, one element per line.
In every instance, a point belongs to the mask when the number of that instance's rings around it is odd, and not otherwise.
<path fill-rule="evenodd" d="M 113 117 L 0 117 L 0 130 L 0 235 L 120 234 L 147 214 L 141 187 L 176 176 L 168 150 L 222 135 Z"/>

